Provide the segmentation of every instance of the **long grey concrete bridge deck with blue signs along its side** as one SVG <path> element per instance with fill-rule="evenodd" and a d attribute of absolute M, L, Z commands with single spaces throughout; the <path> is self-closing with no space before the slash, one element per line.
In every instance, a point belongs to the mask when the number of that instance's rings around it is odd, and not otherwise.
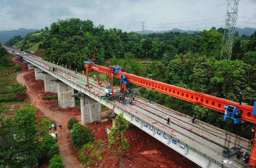
<path fill-rule="evenodd" d="M 8 49 L 8 48 L 7 48 Z M 8 49 L 12 51 L 13 49 Z M 21 55 L 23 59 L 32 66 L 36 66 L 40 70 L 47 72 L 53 78 L 60 80 L 83 92 L 90 98 L 106 105 L 113 109 L 115 113 L 123 113 L 124 117 L 130 123 L 136 125 L 146 133 L 152 135 L 168 147 L 173 148 L 186 158 L 192 160 L 196 164 L 204 168 L 217 167 L 244 167 L 242 158 L 236 159 L 236 155 L 231 158 L 226 158 L 221 155 L 225 143 L 226 131 L 196 120 L 196 123 L 191 122 L 191 117 L 174 111 L 159 104 L 149 105 L 148 100 L 136 96 L 134 105 L 122 105 L 118 101 L 104 100 L 104 86 L 98 86 L 97 82 L 90 78 L 90 86 L 86 84 L 86 76 L 83 74 L 75 74 L 74 71 L 58 66 L 48 61 L 44 61 L 39 57 L 32 55 Z M 49 70 L 49 67 L 56 67 L 56 72 Z M 38 72 L 38 70 L 37 70 Z M 81 110 L 82 111 L 82 110 Z M 170 116 L 170 125 L 166 124 L 166 118 Z M 231 135 L 230 147 L 235 146 L 236 135 Z M 240 146 L 242 150 L 248 150 L 250 141 L 242 137 L 240 139 Z M 232 164 L 223 164 L 222 160 L 228 159 Z"/>

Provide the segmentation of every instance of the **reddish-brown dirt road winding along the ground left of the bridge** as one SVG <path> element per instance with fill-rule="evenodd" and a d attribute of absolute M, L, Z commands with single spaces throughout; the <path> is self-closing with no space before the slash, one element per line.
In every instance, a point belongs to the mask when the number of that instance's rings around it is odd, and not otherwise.
<path fill-rule="evenodd" d="M 31 71 L 21 71 L 17 74 L 17 81 L 26 84 L 28 90 L 27 93 L 30 96 L 33 105 L 38 107 L 38 109 L 44 113 L 44 115 L 52 119 L 53 111 L 52 109 L 44 107 L 43 100 L 40 98 L 40 94 L 32 90 L 30 83 L 24 80 L 24 75 L 30 73 Z M 58 144 L 60 146 L 60 155 L 63 159 L 65 168 L 83 168 L 84 166 L 79 162 L 79 160 L 74 156 L 73 150 L 70 147 L 70 140 L 68 139 L 70 133 L 67 129 L 68 120 L 74 117 L 74 115 L 64 115 L 58 111 L 54 111 L 54 119 L 59 124 L 62 124 L 62 130 L 57 127 Z M 81 119 L 80 116 L 76 116 L 78 120 Z"/>

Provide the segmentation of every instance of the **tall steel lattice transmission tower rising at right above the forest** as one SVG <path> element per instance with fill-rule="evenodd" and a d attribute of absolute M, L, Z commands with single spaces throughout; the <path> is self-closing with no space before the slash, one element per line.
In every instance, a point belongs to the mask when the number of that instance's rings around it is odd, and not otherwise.
<path fill-rule="evenodd" d="M 231 59 L 232 46 L 236 28 L 239 0 L 228 0 L 228 9 L 225 18 L 225 30 L 222 42 L 221 60 Z"/>

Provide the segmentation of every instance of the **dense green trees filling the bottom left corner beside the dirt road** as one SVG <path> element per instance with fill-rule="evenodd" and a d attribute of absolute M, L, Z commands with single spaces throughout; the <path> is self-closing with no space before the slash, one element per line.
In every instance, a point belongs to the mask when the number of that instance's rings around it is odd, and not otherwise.
<path fill-rule="evenodd" d="M 5 119 L 8 108 L 0 104 L 0 167 L 35 166 L 59 154 L 56 140 L 46 131 L 49 120 L 44 118 L 38 123 L 37 111 L 36 107 L 26 105 L 14 117 Z M 41 130 L 42 141 L 36 135 Z"/>

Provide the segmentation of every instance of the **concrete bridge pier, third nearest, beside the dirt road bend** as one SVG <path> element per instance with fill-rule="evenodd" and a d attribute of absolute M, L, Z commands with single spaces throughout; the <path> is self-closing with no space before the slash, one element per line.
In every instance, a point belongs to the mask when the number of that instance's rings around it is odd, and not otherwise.
<path fill-rule="evenodd" d="M 57 80 L 55 77 L 48 73 L 43 73 L 44 76 L 44 92 L 58 93 L 57 82 L 51 80 Z"/>

